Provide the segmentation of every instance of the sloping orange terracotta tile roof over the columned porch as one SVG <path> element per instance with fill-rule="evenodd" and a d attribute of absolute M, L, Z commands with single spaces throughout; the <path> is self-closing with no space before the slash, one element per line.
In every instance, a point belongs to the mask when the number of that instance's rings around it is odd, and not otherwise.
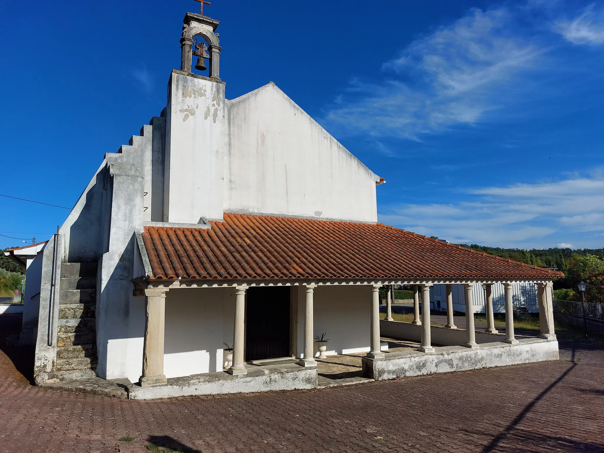
<path fill-rule="evenodd" d="M 556 278 L 555 271 L 382 223 L 224 214 L 210 229 L 146 226 L 155 279 Z"/>

